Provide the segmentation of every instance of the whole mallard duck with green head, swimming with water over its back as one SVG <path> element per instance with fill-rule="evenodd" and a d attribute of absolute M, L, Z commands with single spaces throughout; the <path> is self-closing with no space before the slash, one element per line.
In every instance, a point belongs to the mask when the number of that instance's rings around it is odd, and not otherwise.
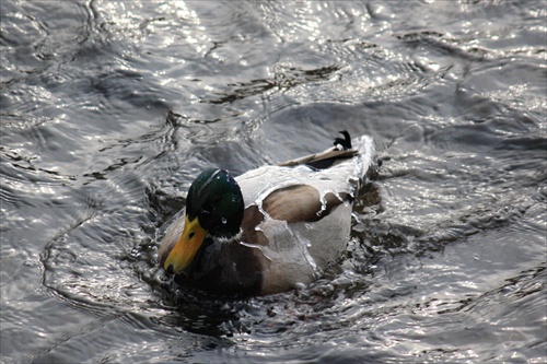
<path fill-rule="evenodd" d="M 199 174 L 160 265 L 177 284 L 214 294 L 267 295 L 321 277 L 347 246 L 352 201 L 375 158 L 372 138 L 342 134 L 323 153 L 236 178 Z"/>

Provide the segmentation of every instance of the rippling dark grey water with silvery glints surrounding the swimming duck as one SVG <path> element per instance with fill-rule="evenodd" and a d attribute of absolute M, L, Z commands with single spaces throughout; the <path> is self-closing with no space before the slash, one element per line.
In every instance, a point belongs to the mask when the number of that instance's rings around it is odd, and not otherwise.
<path fill-rule="evenodd" d="M 0 1 L 3 363 L 544 363 L 545 1 Z M 345 259 L 168 292 L 205 166 L 371 134 Z"/>

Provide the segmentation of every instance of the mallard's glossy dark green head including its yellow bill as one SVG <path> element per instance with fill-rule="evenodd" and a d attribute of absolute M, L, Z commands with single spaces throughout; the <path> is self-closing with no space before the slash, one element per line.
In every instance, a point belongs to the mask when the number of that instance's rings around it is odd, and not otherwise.
<path fill-rule="evenodd" d="M 188 190 L 184 231 L 163 268 L 178 273 L 188 267 L 207 235 L 224 238 L 237 235 L 243 211 L 240 186 L 228 172 L 202 172 Z"/>

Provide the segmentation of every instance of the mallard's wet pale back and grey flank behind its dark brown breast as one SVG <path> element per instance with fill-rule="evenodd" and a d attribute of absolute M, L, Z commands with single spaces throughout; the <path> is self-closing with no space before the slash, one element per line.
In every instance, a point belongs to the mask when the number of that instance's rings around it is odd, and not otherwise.
<path fill-rule="evenodd" d="M 261 293 L 310 283 L 346 248 L 356 192 L 374 165 L 372 138 L 353 140 L 357 151 L 324 169 L 264 166 L 236 178 L 246 219 L 241 242 L 261 270 Z M 245 227 L 247 226 L 247 227 Z"/>

